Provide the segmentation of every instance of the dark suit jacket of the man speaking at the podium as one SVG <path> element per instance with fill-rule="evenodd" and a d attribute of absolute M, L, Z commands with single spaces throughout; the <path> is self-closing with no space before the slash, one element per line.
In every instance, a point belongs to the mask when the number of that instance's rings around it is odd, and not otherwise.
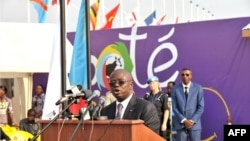
<path fill-rule="evenodd" d="M 101 111 L 102 116 L 107 116 L 108 119 L 115 119 L 116 102 L 111 103 Z M 122 119 L 127 120 L 144 120 L 144 124 L 151 130 L 159 133 L 160 119 L 158 117 L 157 109 L 155 106 L 143 99 L 140 99 L 133 94 L 127 108 L 125 109 Z"/>

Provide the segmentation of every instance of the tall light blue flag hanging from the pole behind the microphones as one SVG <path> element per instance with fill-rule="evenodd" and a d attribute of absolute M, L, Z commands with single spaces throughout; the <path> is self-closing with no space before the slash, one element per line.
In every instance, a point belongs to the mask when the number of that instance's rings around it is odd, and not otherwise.
<path fill-rule="evenodd" d="M 86 0 L 83 0 L 78 15 L 78 23 L 74 39 L 73 54 L 69 73 L 71 86 L 81 85 L 83 89 L 88 89 L 88 58 L 87 58 L 87 28 L 86 28 Z M 79 114 L 80 108 L 86 106 L 83 99 L 80 103 L 73 104 L 70 112 Z"/>

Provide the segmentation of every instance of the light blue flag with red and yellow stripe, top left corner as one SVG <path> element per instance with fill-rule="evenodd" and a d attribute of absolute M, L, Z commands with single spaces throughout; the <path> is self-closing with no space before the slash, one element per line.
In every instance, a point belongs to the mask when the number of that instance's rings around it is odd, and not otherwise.
<path fill-rule="evenodd" d="M 45 22 L 48 11 L 48 1 L 49 0 L 30 0 L 37 11 L 39 23 Z"/>

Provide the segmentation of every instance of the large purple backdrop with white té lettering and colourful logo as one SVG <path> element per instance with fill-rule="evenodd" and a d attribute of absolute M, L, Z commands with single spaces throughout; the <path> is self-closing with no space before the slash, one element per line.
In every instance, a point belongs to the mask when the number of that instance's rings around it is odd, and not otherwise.
<path fill-rule="evenodd" d="M 223 140 L 223 125 L 249 124 L 250 38 L 241 29 L 250 17 L 163 26 L 91 32 L 93 89 L 107 91 L 105 70 L 124 67 L 132 72 L 135 93 L 148 91 L 148 76 L 157 75 L 166 90 L 180 82 L 183 67 L 205 92 L 202 139 Z M 73 41 L 74 33 L 68 38 Z M 125 47 L 125 49 L 124 49 Z M 131 59 L 131 60 L 130 60 Z M 113 63 L 113 67 L 111 64 Z M 110 64 L 110 66 L 108 66 Z M 114 68 L 115 67 L 115 68 Z"/>

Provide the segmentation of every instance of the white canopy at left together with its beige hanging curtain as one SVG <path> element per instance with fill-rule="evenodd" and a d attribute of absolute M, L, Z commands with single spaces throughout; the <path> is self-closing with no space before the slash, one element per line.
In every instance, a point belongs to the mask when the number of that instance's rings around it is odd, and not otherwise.
<path fill-rule="evenodd" d="M 60 34 L 56 24 L 37 23 L 0 23 L 0 31 L 0 79 L 14 78 L 12 100 L 18 124 L 31 108 L 33 73 L 50 72 L 55 48 L 60 48 L 60 38 L 56 38 Z M 68 40 L 66 46 L 66 60 L 71 62 L 73 47 Z M 70 66 L 66 67 L 69 72 Z"/>

